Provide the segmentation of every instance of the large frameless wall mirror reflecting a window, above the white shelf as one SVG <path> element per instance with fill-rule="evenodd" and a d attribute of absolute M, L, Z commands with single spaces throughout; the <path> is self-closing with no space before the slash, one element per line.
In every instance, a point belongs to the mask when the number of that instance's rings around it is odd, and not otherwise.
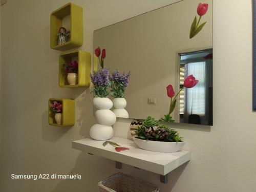
<path fill-rule="evenodd" d="M 98 29 L 97 47 L 106 49 L 105 68 L 131 71 L 129 118 L 168 114 L 171 84 L 181 90 L 170 113 L 175 122 L 212 125 L 212 0 L 183 0 Z M 199 81 L 193 88 L 184 84 L 190 75 Z"/>

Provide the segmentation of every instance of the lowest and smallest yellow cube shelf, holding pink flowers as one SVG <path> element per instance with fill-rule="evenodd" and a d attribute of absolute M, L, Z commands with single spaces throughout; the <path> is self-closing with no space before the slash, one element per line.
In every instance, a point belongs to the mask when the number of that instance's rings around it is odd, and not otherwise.
<path fill-rule="evenodd" d="M 54 120 L 54 112 L 50 110 L 53 101 L 62 103 L 62 124 L 57 124 Z M 75 124 L 75 100 L 74 99 L 49 99 L 49 124 L 53 126 L 73 126 Z"/>

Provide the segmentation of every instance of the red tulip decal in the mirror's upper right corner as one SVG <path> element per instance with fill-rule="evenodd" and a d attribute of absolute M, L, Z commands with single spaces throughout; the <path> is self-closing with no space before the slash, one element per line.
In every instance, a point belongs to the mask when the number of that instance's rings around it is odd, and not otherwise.
<path fill-rule="evenodd" d="M 195 16 L 194 21 L 190 27 L 189 38 L 193 38 L 194 36 L 196 36 L 206 24 L 206 22 L 204 22 L 201 25 L 199 25 L 201 17 L 207 13 L 208 6 L 209 6 L 208 4 L 202 4 L 202 3 L 198 5 L 197 14 L 199 15 L 199 19 L 197 21 L 197 16 Z"/>

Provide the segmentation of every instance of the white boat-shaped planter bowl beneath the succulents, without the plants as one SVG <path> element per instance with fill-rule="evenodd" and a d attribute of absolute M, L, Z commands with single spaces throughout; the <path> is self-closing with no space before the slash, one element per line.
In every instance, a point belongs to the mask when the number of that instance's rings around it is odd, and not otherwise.
<path fill-rule="evenodd" d="M 152 152 L 177 152 L 186 142 L 163 142 L 163 141 L 149 141 L 133 137 L 134 142 L 143 150 Z"/>

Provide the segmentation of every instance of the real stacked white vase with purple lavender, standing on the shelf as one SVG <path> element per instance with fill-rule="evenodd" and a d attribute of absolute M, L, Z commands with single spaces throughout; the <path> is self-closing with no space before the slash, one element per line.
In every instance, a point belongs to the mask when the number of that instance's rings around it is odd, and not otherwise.
<path fill-rule="evenodd" d="M 112 125 L 116 123 L 116 115 L 110 110 L 113 102 L 108 98 L 110 94 L 108 90 L 110 84 L 109 75 L 108 69 L 100 69 L 90 75 L 94 85 L 93 104 L 98 109 L 95 112 L 98 123 L 90 129 L 90 136 L 95 140 L 108 140 L 114 134 Z"/>

